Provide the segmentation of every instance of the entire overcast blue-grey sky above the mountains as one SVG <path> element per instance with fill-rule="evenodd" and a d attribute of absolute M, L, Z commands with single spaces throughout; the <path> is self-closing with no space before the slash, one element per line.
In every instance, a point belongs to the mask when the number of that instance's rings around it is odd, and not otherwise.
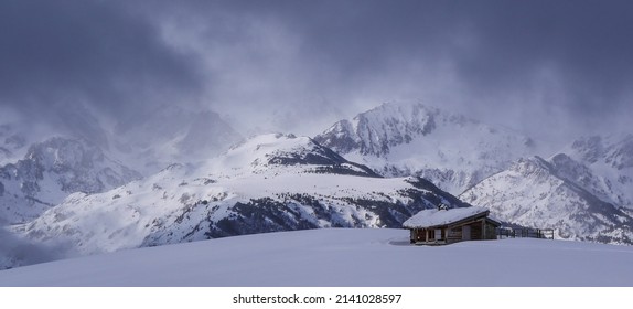
<path fill-rule="evenodd" d="M 313 135 L 419 100 L 536 136 L 631 131 L 631 12 L 633 1 L 4 0 L 0 105 L 54 124 L 83 106 L 122 126 L 178 105 L 243 131 Z"/>

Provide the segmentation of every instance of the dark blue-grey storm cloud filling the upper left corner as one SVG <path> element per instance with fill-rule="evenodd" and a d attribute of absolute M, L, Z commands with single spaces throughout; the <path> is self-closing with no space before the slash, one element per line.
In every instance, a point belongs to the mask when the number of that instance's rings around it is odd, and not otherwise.
<path fill-rule="evenodd" d="M 0 103 L 138 116 L 200 86 L 193 62 L 117 1 L 2 1 Z"/>

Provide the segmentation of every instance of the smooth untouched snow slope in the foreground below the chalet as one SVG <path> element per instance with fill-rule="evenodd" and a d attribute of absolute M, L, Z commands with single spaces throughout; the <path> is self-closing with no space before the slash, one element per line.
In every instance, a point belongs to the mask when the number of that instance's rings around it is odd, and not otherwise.
<path fill-rule="evenodd" d="M 122 251 L 0 271 L 0 286 L 633 286 L 633 247 L 545 239 L 411 246 L 323 228 Z"/>

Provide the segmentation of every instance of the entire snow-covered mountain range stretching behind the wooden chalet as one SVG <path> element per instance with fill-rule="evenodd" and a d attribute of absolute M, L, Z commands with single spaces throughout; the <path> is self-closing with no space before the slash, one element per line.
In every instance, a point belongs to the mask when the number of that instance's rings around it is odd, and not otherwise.
<path fill-rule="evenodd" d="M 421 104 L 384 104 L 314 139 L 264 135 L 233 148 L 239 135 L 211 111 L 173 107 L 131 127 L 93 127 L 105 148 L 79 138 L 32 143 L 0 126 L 0 225 L 12 224 L 11 246 L 95 254 L 262 232 L 399 227 L 440 203 L 490 207 L 561 238 L 633 244 L 631 135 L 582 138 L 544 160 L 532 157 L 540 147 L 526 136 Z M 167 168 L 152 172 L 159 167 Z M 463 192 L 464 202 L 433 183 Z M 0 268 L 29 263 L 4 257 Z"/>

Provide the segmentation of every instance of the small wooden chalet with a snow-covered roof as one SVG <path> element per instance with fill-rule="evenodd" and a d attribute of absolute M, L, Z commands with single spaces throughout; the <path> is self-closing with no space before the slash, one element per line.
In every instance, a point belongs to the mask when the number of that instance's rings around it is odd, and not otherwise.
<path fill-rule="evenodd" d="M 462 241 L 496 239 L 501 222 L 484 207 L 423 210 L 403 223 L 411 244 L 446 245 Z"/>

